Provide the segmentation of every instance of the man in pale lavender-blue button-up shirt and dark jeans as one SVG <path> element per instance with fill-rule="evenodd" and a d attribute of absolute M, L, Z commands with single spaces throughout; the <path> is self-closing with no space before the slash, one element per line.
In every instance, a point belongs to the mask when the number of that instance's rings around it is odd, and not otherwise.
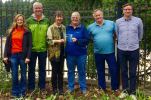
<path fill-rule="evenodd" d="M 136 100 L 136 70 L 139 63 L 139 42 L 143 37 L 143 23 L 132 15 L 131 4 L 123 5 L 122 18 L 116 20 L 118 39 L 118 60 L 122 73 L 122 88 L 120 98 L 128 92 Z M 129 70 L 129 71 L 128 71 Z M 129 74 L 129 78 L 128 78 Z"/>

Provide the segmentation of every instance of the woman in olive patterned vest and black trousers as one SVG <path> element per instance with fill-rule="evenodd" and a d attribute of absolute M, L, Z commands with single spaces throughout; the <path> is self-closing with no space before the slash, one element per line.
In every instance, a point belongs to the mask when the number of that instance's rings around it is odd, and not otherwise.
<path fill-rule="evenodd" d="M 62 24 L 63 12 L 56 11 L 55 22 L 48 28 L 48 57 L 52 66 L 53 94 L 63 94 L 63 68 L 64 68 L 64 44 L 66 40 L 66 28 Z"/>

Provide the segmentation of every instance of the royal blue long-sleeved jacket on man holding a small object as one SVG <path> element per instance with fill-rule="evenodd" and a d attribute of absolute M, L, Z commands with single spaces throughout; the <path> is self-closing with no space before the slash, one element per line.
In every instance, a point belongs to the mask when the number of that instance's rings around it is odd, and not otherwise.
<path fill-rule="evenodd" d="M 76 38 L 76 42 L 72 42 L 68 39 L 68 36 L 72 34 L 72 38 Z M 73 28 L 69 25 L 66 27 L 66 53 L 71 56 L 82 56 L 87 54 L 87 44 L 89 41 L 89 33 L 84 25 L 80 24 L 78 27 Z"/>

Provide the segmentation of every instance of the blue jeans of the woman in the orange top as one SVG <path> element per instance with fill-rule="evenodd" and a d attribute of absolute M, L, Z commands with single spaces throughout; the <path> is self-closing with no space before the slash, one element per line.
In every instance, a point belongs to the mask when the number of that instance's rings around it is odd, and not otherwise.
<path fill-rule="evenodd" d="M 26 67 L 25 60 L 22 59 L 22 53 L 12 54 L 11 58 L 12 65 L 12 95 L 13 96 L 24 96 L 26 91 Z M 21 79 L 18 79 L 18 69 L 21 69 Z"/>

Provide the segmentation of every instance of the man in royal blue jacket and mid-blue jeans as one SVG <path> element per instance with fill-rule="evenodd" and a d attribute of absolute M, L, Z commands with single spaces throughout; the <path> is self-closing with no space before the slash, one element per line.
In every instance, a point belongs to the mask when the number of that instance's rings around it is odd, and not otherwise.
<path fill-rule="evenodd" d="M 68 67 L 68 92 L 74 90 L 75 66 L 77 65 L 80 89 L 86 93 L 86 59 L 88 31 L 80 23 L 79 12 L 71 14 L 71 24 L 66 27 L 66 60 Z"/>

